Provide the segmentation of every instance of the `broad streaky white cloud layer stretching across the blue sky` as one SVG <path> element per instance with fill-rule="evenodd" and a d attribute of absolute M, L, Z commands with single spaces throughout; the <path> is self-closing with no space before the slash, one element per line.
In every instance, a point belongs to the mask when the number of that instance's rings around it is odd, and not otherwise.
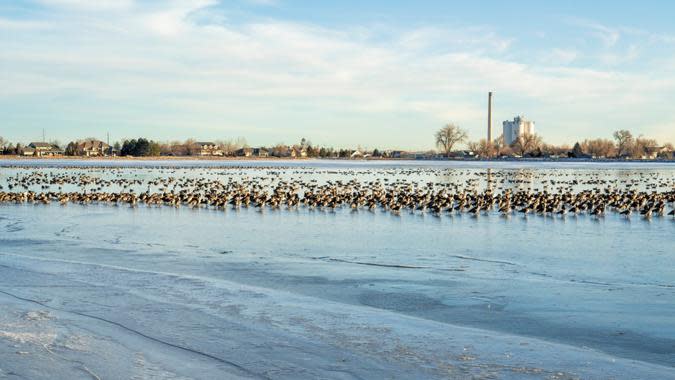
<path fill-rule="evenodd" d="M 309 114 L 325 115 L 316 116 L 315 127 L 321 127 L 348 117 L 357 140 L 367 132 L 364 125 L 386 129 L 392 120 L 403 123 L 398 117 L 403 114 L 432 128 L 456 121 L 476 136 L 484 130 L 485 93 L 494 90 L 495 120 L 535 114 L 545 136 L 562 139 L 566 133 L 583 135 L 579 128 L 592 124 L 589 119 L 620 122 L 675 93 L 675 79 L 658 73 L 581 67 L 583 53 L 577 49 L 552 47 L 540 60 L 522 59 L 528 55 L 511 54 L 512 38 L 488 28 L 337 30 L 276 20 L 236 26 L 195 22 L 195 14 L 211 12 L 215 2 L 209 0 L 143 6 L 127 1 L 114 8 L 118 12 L 82 17 L 67 9 L 86 7 L 84 1 L 44 1 L 60 4 L 65 14 L 14 25 L 19 38 L 0 40 L 3 66 L 11 72 L 0 77 L 0 102 L 27 94 L 78 94 L 119 107 L 122 118 L 131 111 L 117 104 L 137 104 L 148 113 L 162 109 L 169 114 L 137 118 L 173 120 L 186 129 L 260 128 L 266 117 L 294 128 L 291 124 L 305 122 Z M 0 28 L 22 22 L 0 19 Z M 34 30 L 40 25 L 53 31 L 45 36 Z M 593 30 L 604 46 L 619 41 L 613 28 Z M 636 57 L 637 48 L 633 52 Z M 572 62 L 574 67 L 566 67 Z M 515 100 L 505 104 L 507 98 Z M 333 137 L 345 134 L 336 130 Z"/>

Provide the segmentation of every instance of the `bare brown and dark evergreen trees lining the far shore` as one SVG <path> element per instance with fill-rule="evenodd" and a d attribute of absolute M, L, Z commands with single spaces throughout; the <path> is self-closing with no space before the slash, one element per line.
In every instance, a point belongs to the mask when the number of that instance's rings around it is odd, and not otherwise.
<path fill-rule="evenodd" d="M 550 155 L 569 156 L 569 157 L 594 157 L 594 158 L 643 158 L 648 155 L 648 151 L 658 146 L 655 139 L 645 138 L 643 136 L 635 137 L 628 130 L 619 130 L 613 133 L 612 138 L 586 139 L 574 144 L 573 147 L 567 145 L 552 145 L 544 142 L 541 136 L 537 134 L 523 134 L 513 142 L 513 144 L 504 144 L 503 136 L 499 136 L 493 141 L 480 139 L 478 141 L 469 141 L 468 133 L 456 124 L 447 124 L 440 128 L 435 134 L 435 145 L 446 157 L 455 154 L 455 150 L 466 143 L 468 150 L 480 157 L 500 157 L 500 156 L 520 156 L 520 157 L 542 157 Z M 86 140 L 91 140 L 88 138 Z M 64 154 L 68 156 L 77 156 L 82 154 L 80 143 L 83 140 L 71 141 L 64 149 Z M 51 141 L 50 144 L 59 146 L 58 141 Z M 216 140 L 214 144 L 219 155 L 236 156 L 243 148 L 250 148 L 246 139 L 236 138 L 231 140 Z M 663 145 L 662 156 L 672 157 L 673 145 Z M 25 146 L 20 143 L 12 144 L 0 137 L 0 153 L 5 155 L 22 155 Z M 335 149 L 332 147 L 315 146 L 311 141 L 303 138 L 298 144 L 286 145 L 283 143 L 275 144 L 269 147 L 260 147 L 265 150 L 269 156 L 288 157 L 291 150 L 302 152 L 302 157 L 320 157 L 320 158 L 350 158 L 355 152 L 368 153 L 371 157 L 389 157 L 391 152 L 384 150 L 366 150 L 358 147 L 356 149 Z M 158 142 L 147 138 L 136 138 L 116 142 L 109 148 L 108 154 L 120 156 L 190 156 L 199 155 L 201 147 L 196 140 L 188 139 L 185 141 Z"/>

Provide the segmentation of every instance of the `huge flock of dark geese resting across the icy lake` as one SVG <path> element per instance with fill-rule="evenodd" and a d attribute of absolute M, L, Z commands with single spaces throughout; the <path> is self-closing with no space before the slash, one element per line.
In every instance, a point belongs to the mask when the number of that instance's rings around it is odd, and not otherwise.
<path fill-rule="evenodd" d="M 346 208 L 439 216 L 602 217 L 611 212 L 627 218 L 639 214 L 646 219 L 666 215 L 675 219 L 675 180 L 654 173 L 617 178 L 597 172 L 486 173 L 425 168 L 229 168 L 212 170 L 209 175 L 202 175 L 203 169 L 143 170 L 19 169 L 15 175 L 0 178 L 0 203 L 143 204 L 220 210 Z M 152 173 L 160 175 L 149 177 Z"/>

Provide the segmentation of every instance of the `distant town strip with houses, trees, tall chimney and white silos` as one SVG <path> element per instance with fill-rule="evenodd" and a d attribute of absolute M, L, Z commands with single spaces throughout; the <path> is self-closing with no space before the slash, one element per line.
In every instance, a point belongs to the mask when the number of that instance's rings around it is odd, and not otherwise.
<path fill-rule="evenodd" d="M 71 141 L 65 146 L 57 140 L 11 143 L 0 136 L 3 155 L 19 157 L 201 157 L 201 158 L 326 158 L 326 159 L 620 159 L 673 160 L 672 143 L 635 137 L 618 130 L 611 138 L 585 139 L 574 144 L 551 145 L 535 132 L 534 121 L 524 116 L 502 123 L 502 134 L 492 138 L 492 93 L 488 96 L 487 138 L 469 141 L 468 133 L 456 124 L 446 124 L 434 134 L 438 150 L 404 151 L 387 149 L 316 146 L 302 138 L 297 144 L 249 146 L 244 138 L 234 140 L 158 142 L 147 138 L 125 139 L 115 143 L 93 137 Z M 44 136 L 44 131 L 43 131 Z M 43 140 L 46 140 L 43 137 Z M 459 149 L 462 147 L 462 149 Z"/>

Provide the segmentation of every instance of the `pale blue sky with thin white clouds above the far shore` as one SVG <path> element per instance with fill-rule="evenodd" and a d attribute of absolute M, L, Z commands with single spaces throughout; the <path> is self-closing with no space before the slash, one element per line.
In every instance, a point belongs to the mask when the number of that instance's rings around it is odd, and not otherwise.
<path fill-rule="evenodd" d="M 675 2 L 0 2 L 0 136 L 430 149 L 524 115 L 546 142 L 675 142 Z"/>

